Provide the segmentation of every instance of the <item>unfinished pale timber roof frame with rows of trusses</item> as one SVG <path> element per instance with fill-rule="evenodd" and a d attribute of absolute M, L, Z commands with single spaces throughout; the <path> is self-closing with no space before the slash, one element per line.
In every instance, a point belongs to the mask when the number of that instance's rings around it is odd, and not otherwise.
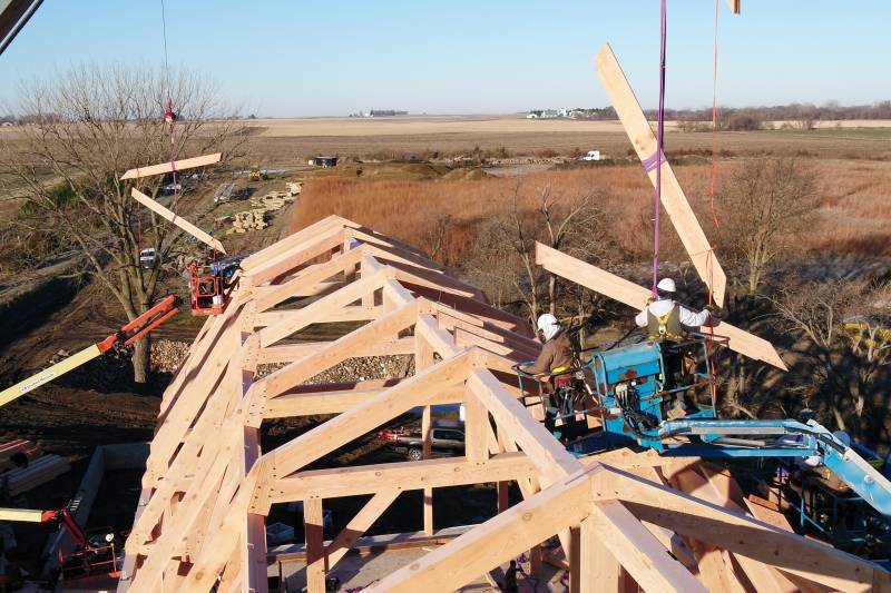
<path fill-rule="evenodd" d="M 345 320 L 368 323 L 334 342 L 282 343 Z M 891 590 L 888 572 L 793 534 L 697 461 L 570 456 L 537 419 L 538 398 L 518 398 L 511 366 L 538 348 L 530 327 L 480 290 L 339 217 L 252 255 L 164 395 L 118 591 L 264 592 L 270 505 L 303 501 L 309 591 L 322 593 L 326 571 L 400 493 L 423 490 L 432 534 L 433 488 L 493 482 L 498 515 L 365 591 L 453 591 L 523 552 L 540 557 L 555 535 L 572 592 Z M 305 384 L 347 358 L 388 354 L 413 355 L 415 374 Z M 285 365 L 257 378 L 265 363 Z M 305 470 L 417 406 L 429 454 L 430 406 L 449 403 L 466 406 L 463 457 Z M 261 451 L 264 418 L 317 414 L 336 415 Z M 510 481 L 525 498 L 512 507 Z M 323 501 L 359 494 L 373 496 L 325 546 Z"/>

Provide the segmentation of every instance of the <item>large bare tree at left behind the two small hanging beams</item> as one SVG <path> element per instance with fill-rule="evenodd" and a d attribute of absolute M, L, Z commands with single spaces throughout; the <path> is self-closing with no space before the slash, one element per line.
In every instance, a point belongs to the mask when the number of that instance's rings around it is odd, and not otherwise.
<path fill-rule="evenodd" d="M 29 113 L 31 125 L 22 126 L 22 138 L 4 144 L 0 156 L 17 194 L 23 189 L 19 216 L 7 223 L 51 233 L 70 245 L 86 261 L 85 273 L 114 296 L 128 319 L 153 305 L 166 270 L 143 268 L 140 248 L 154 248 L 166 263 L 182 245 L 176 227 L 149 216 L 133 200 L 133 181 L 119 180 L 127 169 L 170 158 L 164 120 L 167 97 L 179 115 L 175 126 L 179 155 L 218 150 L 232 155 L 243 142 L 239 125 L 226 117 L 215 86 L 200 76 L 164 75 L 121 63 L 87 65 L 72 67 L 51 82 L 21 86 L 20 110 Z M 141 189 L 155 196 L 163 182 L 163 177 L 147 179 Z M 137 383 L 147 379 L 149 347 L 148 339 L 136 345 Z"/>

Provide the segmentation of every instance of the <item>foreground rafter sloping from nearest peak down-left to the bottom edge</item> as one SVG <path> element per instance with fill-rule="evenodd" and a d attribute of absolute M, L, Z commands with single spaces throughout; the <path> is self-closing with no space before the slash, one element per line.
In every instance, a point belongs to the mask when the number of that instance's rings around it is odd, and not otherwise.
<path fill-rule="evenodd" d="M 591 512 L 590 477 L 599 466 L 555 483 L 496 515 L 452 542 L 366 589 L 369 593 L 451 592 L 544 542 L 555 533 L 578 525 Z"/>

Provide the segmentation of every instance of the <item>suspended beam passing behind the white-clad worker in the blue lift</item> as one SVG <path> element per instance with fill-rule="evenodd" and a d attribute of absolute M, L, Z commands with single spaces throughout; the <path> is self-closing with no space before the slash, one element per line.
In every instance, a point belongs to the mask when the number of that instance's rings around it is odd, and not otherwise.
<path fill-rule="evenodd" d="M 590 288 L 611 299 L 624 303 L 635 309 L 646 307 L 650 293 L 643 286 L 610 274 L 575 257 L 561 254 L 547 245 L 536 244 L 536 264 L 542 266 L 551 274 L 556 274 Z M 762 360 L 782 370 L 789 370 L 776 348 L 764 338 L 744 332 L 738 327 L 719 322 L 714 326 L 715 336 L 726 337 L 727 347 L 755 360 Z M 707 328 L 701 329 L 707 332 Z"/>

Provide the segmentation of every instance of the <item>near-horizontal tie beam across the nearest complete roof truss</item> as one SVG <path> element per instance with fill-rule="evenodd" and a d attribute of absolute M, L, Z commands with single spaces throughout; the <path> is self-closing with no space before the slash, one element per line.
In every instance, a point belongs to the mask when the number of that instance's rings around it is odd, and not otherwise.
<path fill-rule="evenodd" d="M 273 503 L 373 494 L 383 488 L 400 492 L 508 482 L 537 475 L 536 464 L 525 453 L 499 453 L 480 463 L 466 457 L 441 457 L 420 462 L 380 463 L 356 467 L 297 472 L 275 482 Z"/>

